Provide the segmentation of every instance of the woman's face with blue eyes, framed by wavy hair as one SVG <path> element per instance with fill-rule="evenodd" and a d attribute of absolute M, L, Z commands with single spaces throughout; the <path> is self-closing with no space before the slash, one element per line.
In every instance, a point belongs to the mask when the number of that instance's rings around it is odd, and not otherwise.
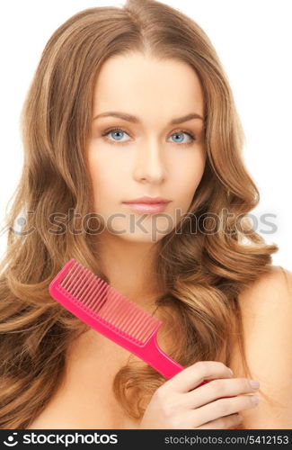
<path fill-rule="evenodd" d="M 204 172 L 204 122 L 186 117 L 204 115 L 199 78 L 183 62 L 133 52 L 103 64 L 93 95 L 94 212 L 105 233 L 156 241 L 188 211 Z M 151 213 L 124 203 L 143 196 L 171 202 Z"/>

